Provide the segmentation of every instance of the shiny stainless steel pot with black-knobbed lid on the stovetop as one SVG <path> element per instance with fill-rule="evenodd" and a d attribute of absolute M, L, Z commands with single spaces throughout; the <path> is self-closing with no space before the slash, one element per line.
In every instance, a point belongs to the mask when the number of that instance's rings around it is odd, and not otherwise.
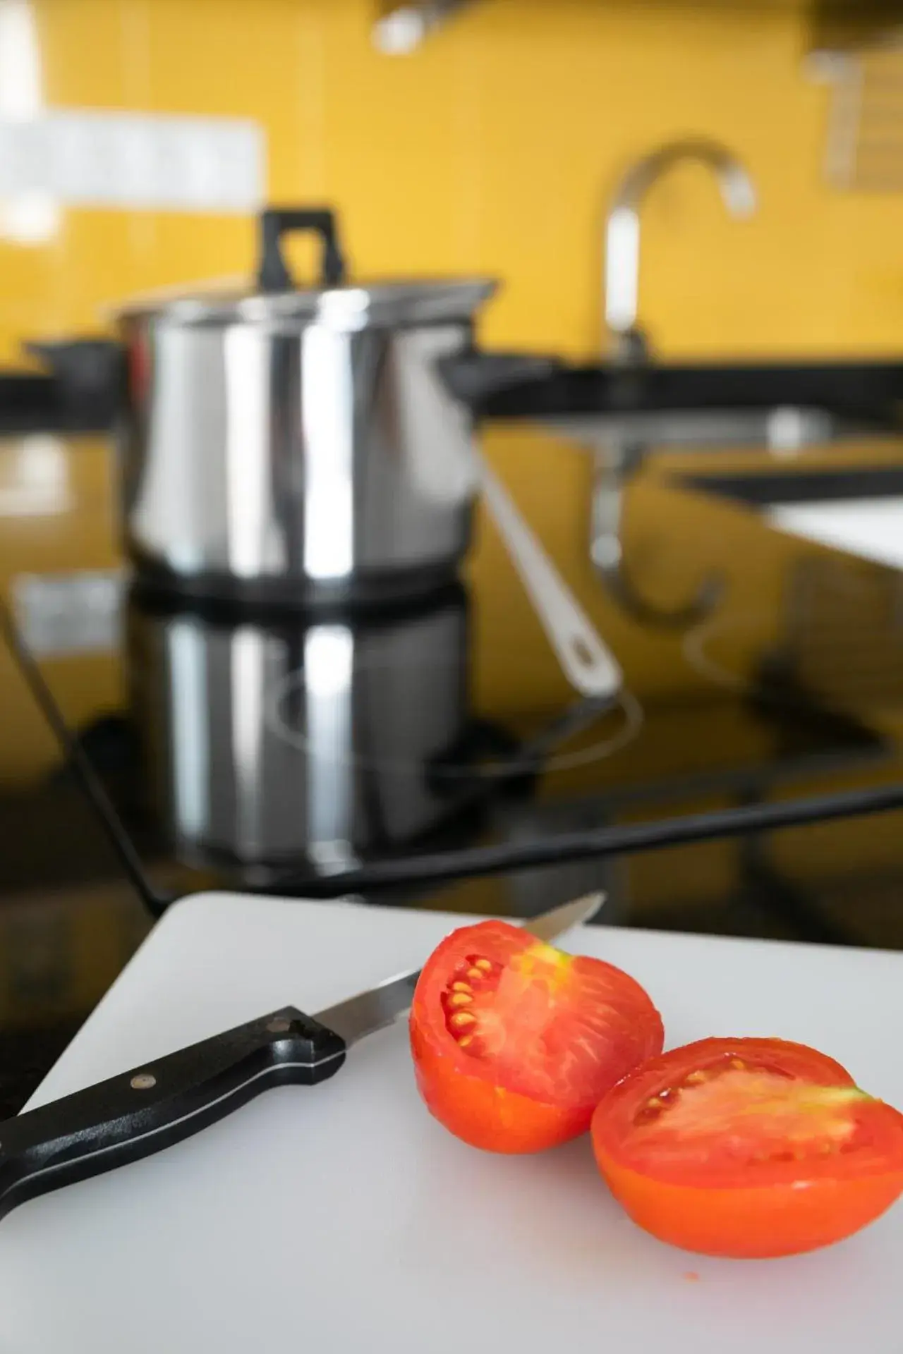
<path fill-rule="evenodd" d="M 321 287 L 292 288 L 282 240 L 298 230 L 321 236 Z M 495 284 L 345 283 L 329 211 L 267 211 L 260 238 L 255 291 L 120 311 L 129 554 L 200 594 L 422 593 L 455 573 L 474 498 L 471 409 L 440 367 L 460 359 L 468 389 Z M 500 355 L 490 385 L 548 366 Z"/>

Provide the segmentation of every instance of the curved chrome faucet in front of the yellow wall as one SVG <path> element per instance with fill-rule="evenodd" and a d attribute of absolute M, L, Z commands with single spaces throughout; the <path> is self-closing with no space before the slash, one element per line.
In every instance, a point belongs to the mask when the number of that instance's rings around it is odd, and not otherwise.
<path fill-rule="evenodd" d="M 636 324 L 639 307 L 639 214 L 648 188 L 671 165 L 696 160 L 709 165 L 722 190 L 724 206 L 734 217 L 749 217 L 755 210 L 755 187 L 741 161 L 718 141 L 686 138 L 659 146 L 638 160 L 612 199 L 605 219 L 605 351 L 615 338 L 615 356 L 642 360 L 647 345 Z"/>

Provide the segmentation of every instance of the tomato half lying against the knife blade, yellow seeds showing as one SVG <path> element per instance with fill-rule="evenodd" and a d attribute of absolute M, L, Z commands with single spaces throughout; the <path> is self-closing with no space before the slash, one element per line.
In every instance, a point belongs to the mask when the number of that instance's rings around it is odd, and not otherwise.
<path fill-rule="evenodd" d="M 662 1021 L 632 978 L 481 922 L 426 960 L 410 1011 L 417 1085 L 474 1147 L 536 1152 L 585 1133 L 601 1095 L 661 1052 Z"/>

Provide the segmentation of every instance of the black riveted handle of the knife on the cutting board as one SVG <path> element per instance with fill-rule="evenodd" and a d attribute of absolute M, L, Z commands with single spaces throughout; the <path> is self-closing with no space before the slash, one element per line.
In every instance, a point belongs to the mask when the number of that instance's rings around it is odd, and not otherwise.
<path fill-rule="evenodd" d="M 345 1041 L 292 1006 L 0 1124 L 0 1217 L 37 1194 L 135 1162 L 271 1086 L 315 1086 Z"/>

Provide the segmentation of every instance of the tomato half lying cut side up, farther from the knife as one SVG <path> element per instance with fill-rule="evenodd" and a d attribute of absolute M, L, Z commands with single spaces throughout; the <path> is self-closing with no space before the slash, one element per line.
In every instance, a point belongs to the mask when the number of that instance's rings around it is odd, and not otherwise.
<path fill-rule="evenodd" d="M 635 1223 L 707 1255 L 811 1251 L 903 1190 L 903 1116 L 780 1039 L 704 1039 L 653 1059 L 602 1099 L 593 1148 Z"/>

